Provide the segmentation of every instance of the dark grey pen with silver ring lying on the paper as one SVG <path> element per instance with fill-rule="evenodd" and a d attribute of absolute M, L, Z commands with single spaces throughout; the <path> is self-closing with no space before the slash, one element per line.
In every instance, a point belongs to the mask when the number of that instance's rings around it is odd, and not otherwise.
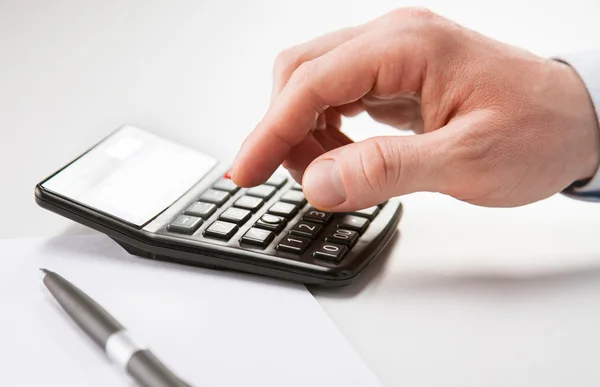
<path fill-rule="evenodd" d="M 189 387 L 87 294 L 60 275 L 40 270 L 44 285 L 65 312 L 137 383 L 144 387 Z"/>

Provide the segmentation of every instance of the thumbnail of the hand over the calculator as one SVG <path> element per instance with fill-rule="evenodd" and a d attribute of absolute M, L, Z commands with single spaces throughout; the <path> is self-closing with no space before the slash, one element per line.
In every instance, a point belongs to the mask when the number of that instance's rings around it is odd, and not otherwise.
<path fill-rule="evenodd" d="M 320 160 L 311 165 L 302 181 L 307 199 L 317 207 L 331 208 L 346 201 L 340 169 L 334 160 Z"/>

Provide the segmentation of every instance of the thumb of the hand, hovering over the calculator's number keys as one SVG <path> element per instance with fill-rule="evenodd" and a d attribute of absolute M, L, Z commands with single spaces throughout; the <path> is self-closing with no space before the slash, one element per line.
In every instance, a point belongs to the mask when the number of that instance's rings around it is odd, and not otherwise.
<path fill-rule="evenodd" d="M 374 137 L 323 154 L 306 169 L 304 194 L 324 211 L 354 211 L 445 185 L 442 131 Z"/>

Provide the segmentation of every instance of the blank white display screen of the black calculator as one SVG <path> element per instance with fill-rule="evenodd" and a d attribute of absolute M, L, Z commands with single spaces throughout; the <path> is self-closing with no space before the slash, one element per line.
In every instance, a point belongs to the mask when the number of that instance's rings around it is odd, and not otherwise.
<path fill-rule="evenodd" d="M 200 181 L 217 160 L 125 126 L 42 187 L 142 226 Z"/>

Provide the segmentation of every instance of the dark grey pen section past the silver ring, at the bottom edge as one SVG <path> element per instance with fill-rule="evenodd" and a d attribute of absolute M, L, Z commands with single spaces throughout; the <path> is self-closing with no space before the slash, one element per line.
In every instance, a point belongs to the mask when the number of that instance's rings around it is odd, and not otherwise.
<path fill-rule="evenodd" d="M 131 356 L 127 373 L 143 387 L 189 387 L 148 350 Z"/>

